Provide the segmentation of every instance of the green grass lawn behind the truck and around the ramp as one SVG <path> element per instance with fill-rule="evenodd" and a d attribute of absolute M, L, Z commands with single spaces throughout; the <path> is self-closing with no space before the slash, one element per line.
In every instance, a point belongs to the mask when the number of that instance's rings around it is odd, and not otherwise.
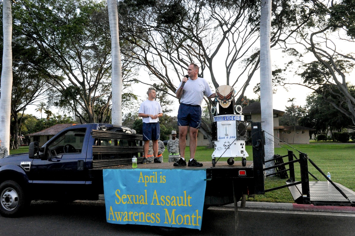
<path fill-rule="evenodd" d="M 292 150 L 297 158 L 299 152 L 306 153 L 308 157 L 316 163 L 316 165 L 327 173 L 332 175 L 334 182 L 340 183 L 345 187 L 355 191 L 355 144 L 342 144 L 342 143 L 312 143 L 312 144 L 294 144 L 293 148 L 283 145 L 281 148 L 275 148 L 275 154 L 287 155 L 288 149 Z M 252 147 L 246 146 L 246 151 L 249 154 L 247 160 L 252 160 Z M 28 152 L 28 147 L 20 147 L 16 150 L 10 150 L 10 154 Z M 190 156 L 190 149 L 186 147 L 186 157 Z M 195 158 L 197 161 L 212 161 L 213 149 L 207 147 L 197 147 Z M 168 161 L 168 152 L 165 149 L 163 153 L 164 161 Z M 241 160 L 241 159 L 240 159 Z M 237 161 L 240 161 L 237 159 Z M 226 161 L 226 158 L 221 158 L 219 161 Z M 287 158 L 284 158 L 284 162 Z M 286 168 L 288 169 L 288 168 Z M 311 163 L 308 163 L 308 170 L 315 175 L 319 180 L 326 181 L 326 179 L 318 172 Z M 296 180 L 300 180 L 299 164 L 295 164 Z M 286 179 L 279 177 L 267 177 L 265 180 L 265 189 L 277 187 L 285 184 Z M 310 181 L 315 181 L 310 176 Z M 294 202 L 288 188 L 267 192 L 264 195 L 256 195 L 255 199 L 249 198 L 248 201 L 259 202 Z"/>

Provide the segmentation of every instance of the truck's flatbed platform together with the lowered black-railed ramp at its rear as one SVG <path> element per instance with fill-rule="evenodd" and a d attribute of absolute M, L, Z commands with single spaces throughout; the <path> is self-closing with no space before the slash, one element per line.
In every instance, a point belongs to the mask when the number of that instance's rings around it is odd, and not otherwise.
<path fill-rule="evenodd" d="M 314 164 L 305 153 L 300 153 L 296 158 L 293 152 L 289 152 L 288 161 L 271 168 L 265 168 L 264 160 L 264 135 L 261 123 L 255 122 L 252 126 L 252 151 L 253 161 L 234 161 L 233 165 L 227 163 L 225 159 L 217 159 L 217 162 L 202 162 L 202 167 L 174 167 L 173 163 L 147 163 L 138 164 L 137 169 L 185 169 L 185 170 L 206 170 L 206 194 L 204 198 L 204 208 L 209 206 L 219 206 L 234 203 L 235 207 L 235 229 L 238 225 L 237 202 L 242 196 L 252 194 L 264 194 L 280 188 L 288 187 L 295 202 L 298 204 L 313 205 L 337 205 L 355 206 L 355 192 L 340 185 L 328 181 L 309 181 L 308 162 Z M 281 158 L 284 158 L 281 157 Z M 138 158 L 138 161 L 142 157 Z M 275 158 L 276 159 L 276 158 Z M 269 161 L 274 161 L 269 160 Z M 295 179 L 295 164 L 299 163 L 301 180 Z M 290 179 L 286 185 L 266 190 L 264 180 L 266 171 L 275 167 L 287 166 Z M 95 168 L 98 169 L 98 168 Z M 131 164 L 117 165 L 104 169 L 132 169 Z M 320 170 L 321 171 L 321 170 Z M 278 174 L 277 172 L 275 174 Z M 325 177 L 326 175 L 322 173 Z M 187 181 L 187 179 L 182 180 Z M 340 191 L 339 191 L 340 190 Z"/>

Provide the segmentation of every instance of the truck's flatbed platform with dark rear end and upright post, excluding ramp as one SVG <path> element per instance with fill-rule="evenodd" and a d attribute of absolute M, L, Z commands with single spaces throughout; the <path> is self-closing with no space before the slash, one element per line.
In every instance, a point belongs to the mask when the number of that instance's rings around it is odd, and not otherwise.
<path fill-rule="evenodd" d="M 138 164 L 136 170 L 204 170 L 206 171 L 206 190 L 204 194 L 203 208 L 210 206 L 220 206 L 234 203 L 235 208 L 235 229 L 238 225 L 237 202 L 247 194 L 262 194 L 264 192 L 264 171 L 263 171 L 263 143 L 261 123 L 255 124 L 253 130 L 253 161 L 226 161 L 225 158 L 211 162 L 202 162 L 202 167 L 174 167 L 173 163 L 147 163 Z M 138 157 L 138 163 L 142 157 Z M 131 163 L 114 166 L 95 167 L 93 172 L 98 169 L 132 169 Z M 98 172 L 97 172 L 98 173 Z M 97 179 L 97 178 L 95 178 Z M 181 181 L 188 181 L 182 179 Z"/>

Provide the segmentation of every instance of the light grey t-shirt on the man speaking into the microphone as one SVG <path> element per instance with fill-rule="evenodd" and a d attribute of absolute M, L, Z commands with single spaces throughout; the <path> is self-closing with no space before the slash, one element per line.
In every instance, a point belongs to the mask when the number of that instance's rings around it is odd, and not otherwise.
<path fill-rule="evenodd" d="M 181 82 L 179 84 L 180 88 Z M 178 91 L 178 90 L 176 90 Z M 197 79 L 189 79 L 186 81 L 184 89 L 182 90 L 182 97 L 180 103 L 189 105 L 201 106 L 203 95 L 209 97 L 213 94 L 211 88 L 208 86 L 206 79 L 197 77 Z"/>

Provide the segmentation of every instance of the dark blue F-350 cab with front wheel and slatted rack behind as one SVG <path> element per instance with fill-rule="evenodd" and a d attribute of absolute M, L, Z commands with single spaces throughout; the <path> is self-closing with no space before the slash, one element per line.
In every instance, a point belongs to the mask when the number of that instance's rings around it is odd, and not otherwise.
<path fill-rule="evenodd" d="M 103 194 L 102 169 L 129 164 L 143 152 L 142 135 L 111 124 L 65 128 L 43 147 L 0 159 L 0 214 L 16 217 L 31 200 L 97 200 Z M 142 158 L 138 158 L 138 161 Z"/>

